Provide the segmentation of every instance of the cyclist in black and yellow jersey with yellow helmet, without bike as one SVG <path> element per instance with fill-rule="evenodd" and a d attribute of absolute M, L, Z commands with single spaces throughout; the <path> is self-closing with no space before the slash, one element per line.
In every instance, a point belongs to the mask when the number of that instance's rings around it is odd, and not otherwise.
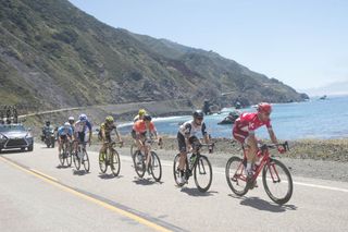
<path fill-rule="evenodd" d="M 122 144 L 123 141 L 122 141 L 121 136 L 120 136 L 120 133 L 119 133 L 119 130 L 117 130 L 116 125 L 114 124 L 114 119 L 113 119 L 112 115 L 108 115 L 105 118 L 105 122 L 101 123 L 100 131 L 99 131 L 100 138 L 103 142 L 102 147 L 99 150 L 99 154 L 103 154 L 103 156 L 100 156 L 100 157 L 102 157 L 102 159 L 105 157 L 104 154 L 107 152 L 105 143 L 110 143 L 111 142 L 111 132 L 113 130 L 115 130 L 117 139 Z"/>

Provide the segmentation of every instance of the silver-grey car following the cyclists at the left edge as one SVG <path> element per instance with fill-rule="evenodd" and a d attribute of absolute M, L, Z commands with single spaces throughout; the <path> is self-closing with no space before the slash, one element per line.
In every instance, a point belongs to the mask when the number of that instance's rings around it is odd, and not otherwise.
<path fill-rule="evenodd" d="M 23 124 L 0 125 L 0 152 L 4 149 L 15 149 L 28 151 L 34 149 L 34 137 L 30 129 L 25 129 Z"/>

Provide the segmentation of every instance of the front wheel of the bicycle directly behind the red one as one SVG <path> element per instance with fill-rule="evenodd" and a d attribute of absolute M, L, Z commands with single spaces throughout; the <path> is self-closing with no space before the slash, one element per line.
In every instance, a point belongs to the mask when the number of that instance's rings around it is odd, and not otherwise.
<path fill-rule="evenodd" d="M 206 156 L 199 156 L 199 159 L 196 161 L 194 176 L 197 188 L 202 193 L 207 192 L 213 180 L 213 171 Z"/>

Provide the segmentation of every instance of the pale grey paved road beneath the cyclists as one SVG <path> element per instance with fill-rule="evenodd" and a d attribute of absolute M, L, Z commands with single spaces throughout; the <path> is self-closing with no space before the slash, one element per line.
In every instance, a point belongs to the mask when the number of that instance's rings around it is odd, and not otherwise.
<path fill-rule="evenodd" d="M 59 167 L 57 150 L 0 157 L 0 231 L 346 231 L 348 183 L 294 176 L 285 206 L 260 186 L 245 197 L 228 188 L 213 167 L 208 193 L 174 185 L 172 161 L 163 160 L 162 183 L 139 180 L 128 149 L 121 149 L 119 178 L 100 174 L 96 152 L 90 173 Z M 161 151 L 159 151 L 161 156 Z M 146 175 L 147 178 L 147 175 Z M 261 185 L 261 184 L 259 184 Z"/>

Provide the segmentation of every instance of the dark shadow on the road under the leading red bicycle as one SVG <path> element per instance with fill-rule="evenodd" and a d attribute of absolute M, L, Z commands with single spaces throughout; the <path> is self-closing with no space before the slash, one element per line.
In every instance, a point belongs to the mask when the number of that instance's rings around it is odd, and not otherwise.
<path fill-rule="evenodd" d="M 241 199 L 240 205 L 243 206 L 250 206 L 252 208 L 263 210 L 263 211 L 270 211 L 270 212 L 285 212 L 289 210 L 297 210 L 297 206 L 294 205 L 277 205 L 273 202 L 268 202 L 264 199 L 260 199 L 259 197 L 236 197 L 232 194 L 228 196 L 234 198 Z"/>

